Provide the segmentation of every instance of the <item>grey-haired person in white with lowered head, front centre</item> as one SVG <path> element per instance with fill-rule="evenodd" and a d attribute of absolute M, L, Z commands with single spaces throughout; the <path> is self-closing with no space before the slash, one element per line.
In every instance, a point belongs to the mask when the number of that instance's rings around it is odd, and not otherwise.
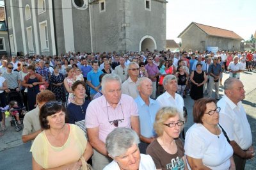
<path fill-rule="evenodd" d="M 155 170 L 149 155 L 140 154 L 140 138 L 131 128 L 115 128 L 106 138 L 106 148 L 113 161 L 103 170 Z"/>

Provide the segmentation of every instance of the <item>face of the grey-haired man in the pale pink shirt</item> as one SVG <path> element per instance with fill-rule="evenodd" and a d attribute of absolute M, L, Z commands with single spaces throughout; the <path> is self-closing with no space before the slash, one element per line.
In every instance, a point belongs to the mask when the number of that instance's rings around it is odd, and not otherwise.
<path fill-rule="evenodd" d="M 118 104 L 122 95 L 121 84 L 118 81 L 108 81 L 102 91 L 109 104 Z"/>

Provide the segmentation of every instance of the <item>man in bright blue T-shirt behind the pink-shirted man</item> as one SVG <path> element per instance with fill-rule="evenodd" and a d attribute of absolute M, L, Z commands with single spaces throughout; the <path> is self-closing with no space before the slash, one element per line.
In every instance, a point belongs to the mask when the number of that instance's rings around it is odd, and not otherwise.
<path fill-rule="evenodd" d="M 90 98 L 93 99 L 94 95 L 100 91 L 100 75 L 103 72 L 99 70 L 98 61 L 92 61 L 92 71 L 87 74 L 87 83 L 90 86 Z"/>

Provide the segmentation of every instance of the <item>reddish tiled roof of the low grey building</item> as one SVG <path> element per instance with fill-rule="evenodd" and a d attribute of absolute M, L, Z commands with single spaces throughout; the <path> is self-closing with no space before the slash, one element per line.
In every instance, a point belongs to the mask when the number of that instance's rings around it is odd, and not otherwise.
<path fill-rule="evenodd" d="M 206 26 L 206 25 L 203 25 L 203 24 L 198 24 L 196 22 L 192 22 L 192 23 L 194 23 L 196 26 L 198 26 L 200 29 L 202 29 L 202 31 L 204 31 L 207 35 L 221 36 L 221 37 L 225 37 L 225 38 L 243 40 L 243 38 L 241 36 L 237 35 L 233 31 L 230 31 L 230 30 L 227 30 L 227 29 L 222 29 L 222 28 L 219 28 L 219 27 Z"/>

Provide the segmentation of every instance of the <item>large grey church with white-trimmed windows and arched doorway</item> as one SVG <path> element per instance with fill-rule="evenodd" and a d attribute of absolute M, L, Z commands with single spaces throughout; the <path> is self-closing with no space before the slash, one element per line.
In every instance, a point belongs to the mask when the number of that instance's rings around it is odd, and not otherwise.
<path fill-rule="evenodd" d="M 6 0 L 12 55 L 163 50 L 165 0 Z"/>

